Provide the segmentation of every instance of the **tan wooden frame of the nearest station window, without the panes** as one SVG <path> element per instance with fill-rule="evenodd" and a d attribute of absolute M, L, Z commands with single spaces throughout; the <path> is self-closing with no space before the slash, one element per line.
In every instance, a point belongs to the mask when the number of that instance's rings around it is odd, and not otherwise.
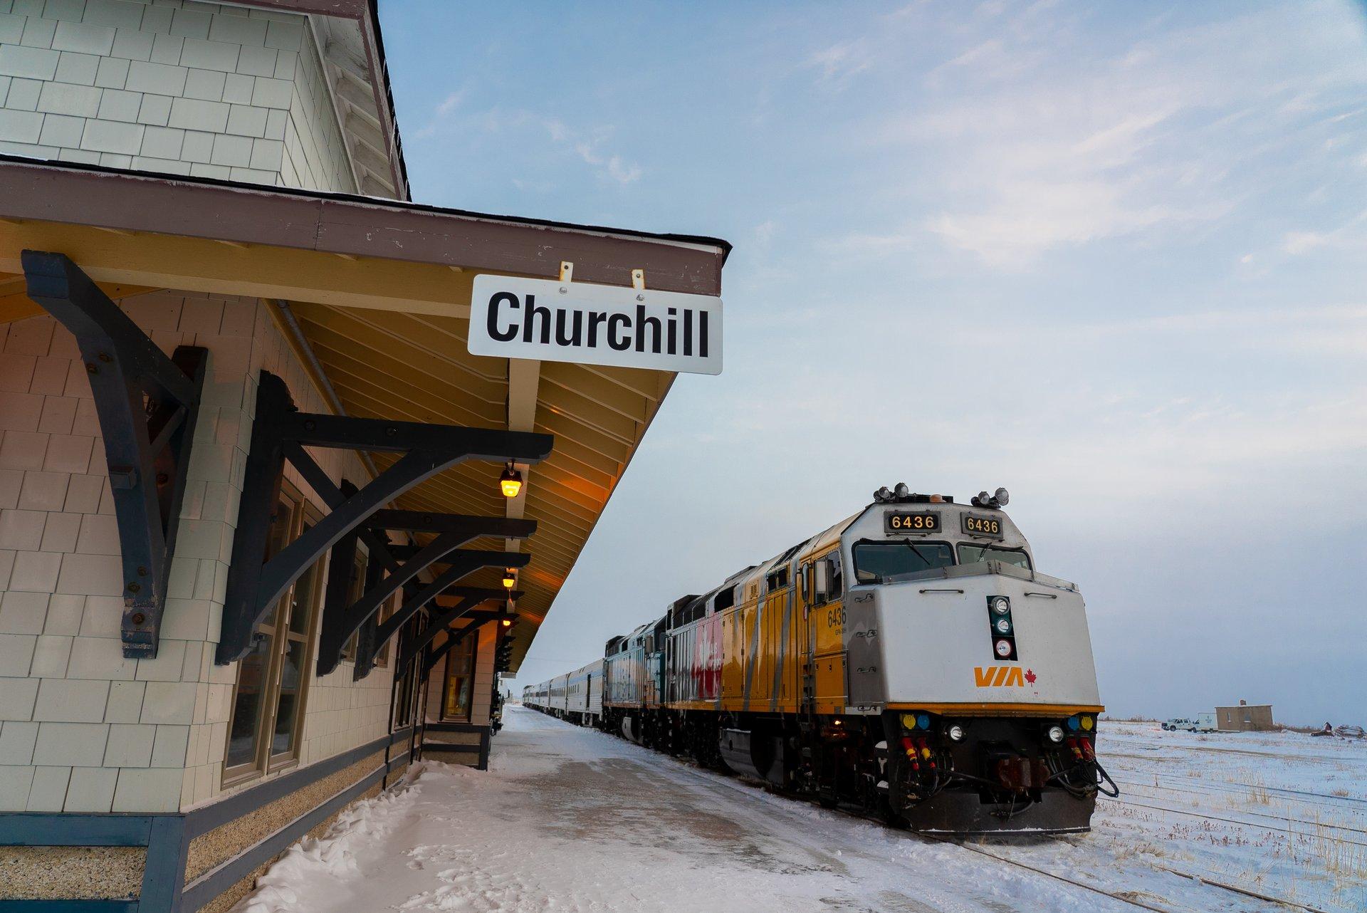
<path fill-rule="evenodd" d="M 323 521 L 323 513 L 316 508 L 303 496 L 303 492 L 298 487 L 291 484 L 288 480 L 280 480 L 280 495 L 276 502 L 278 508 L 282 504 L 288 503 L 291 517 L 290 525 L 284 536 L 284 543 L 280 545 L 288 545 L 299 537 L 305 525 L 317 525 Z M 313 678 L 313 653 L 314 641 L 317 640 L 317 626 L 319 618 L 321 616 L 323 596 L 327 588 L 327 555 L 319 558 L 309 570 L 299 575 L 290 586 L 280 595 L 276 604 L 269 612 L 267 612 L 267 619 L 257 626 L 257 631 L 269 638 L 271 644 L 267 651 L 265 674 L 261 682 L 260 694 L 261 705 L 256 715 L 254 722 L 254 745 L 252 750 L 252 759 L 241 764 L 228 764 L 228 746 L 232 737 L 232 723 L 234 713 L 236 712 L 238 692 L 242 685 L 242 664 L 238 663 L 238 672 L 232 682 L 232 694 L 228 707 L 228 734 L 224 739 L 223 759 L 221 759 L 221 785 L 235 786 L 250 780 L 257 776 L 264 776 L 267 774 L 293 767 L 299 763 L 299 753 L 303 744 L 303 723 L 308 716 L 308 700 L 309 700 L 309 683 Z M 302 633 L 295 633 L 290 630 L 290 612 L 293 612 L 293 600 L 299 581 L 310 575 L 313 578 L 313 596 L 310 605 L 306 607 L 309 612 L 308 623 L 303 626 Z M 283 633 L 283 637 L 282 637 Z M 294 705 L 294 730 L 293 730 L 293 744 L 287 752 L 275 752 L 275 727 L 279 719 L 280 711 L 280 682 L 282 674 L 284 671 L 284 655 L 291 642 L 303 644 L 303 662 L 301 668 L 301 679 L 298 686 L 298 694 Z"/>

